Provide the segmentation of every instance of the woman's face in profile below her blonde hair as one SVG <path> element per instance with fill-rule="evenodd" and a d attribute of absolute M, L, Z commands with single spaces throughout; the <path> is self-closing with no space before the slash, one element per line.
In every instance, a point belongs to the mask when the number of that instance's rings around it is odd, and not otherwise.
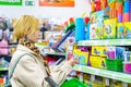
<path fill-rule="evenodd" d="M 27 38 L 28 38 L 28 40 L 31 41 L 31 42 L 37 42 L 37 40 L 39 39 L 39 37 L 40 37 L 40 30 L 39 29 L 37 29 L 35 33 L 33 33 L 33 34 L 28 34 L 27 35 Z"/>

